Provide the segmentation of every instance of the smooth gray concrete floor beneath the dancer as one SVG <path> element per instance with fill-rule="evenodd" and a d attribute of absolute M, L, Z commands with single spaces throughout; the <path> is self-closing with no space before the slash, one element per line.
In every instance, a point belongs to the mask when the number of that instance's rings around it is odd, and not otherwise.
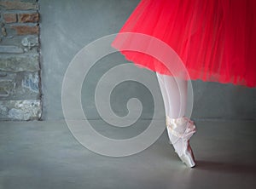
<path fill-rule="evenodd" d="M 256 122 L 196 123 L 197 166 L 188 169 L 166 132 L 143 152 L 111 158 L 81 146 L 64 121 L 1 122 L 0 188 L 254 188 Z"/>

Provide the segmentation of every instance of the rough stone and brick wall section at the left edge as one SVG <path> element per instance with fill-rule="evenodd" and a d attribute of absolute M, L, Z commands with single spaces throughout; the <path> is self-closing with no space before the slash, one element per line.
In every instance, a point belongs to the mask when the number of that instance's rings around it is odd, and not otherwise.
<path fill-rule="evenodd" d="M 37 0 L 0 0 L 0 120 L 42 114 Z"/>

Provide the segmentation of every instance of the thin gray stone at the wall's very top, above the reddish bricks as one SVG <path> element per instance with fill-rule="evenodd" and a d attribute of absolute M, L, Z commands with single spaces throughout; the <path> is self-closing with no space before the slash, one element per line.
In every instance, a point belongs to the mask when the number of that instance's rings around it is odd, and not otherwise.
<path fill-rule="evenodd" d="M 29 10 L 29 9 L 38 9 L 37 3 L 25 3 L 19 1 L 1 1 L 0 7 L 3 9 L 12 10 L 12 9 L 20 9 L 20 10 Z"/>

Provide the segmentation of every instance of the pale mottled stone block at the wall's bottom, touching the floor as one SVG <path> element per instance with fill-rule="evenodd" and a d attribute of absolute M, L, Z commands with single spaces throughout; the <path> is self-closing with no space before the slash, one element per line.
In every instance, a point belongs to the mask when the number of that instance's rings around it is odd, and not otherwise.
<path fill-rule="evenodd" d="M 0 101 L 1 120 L 38 120 L 42 115 L 41 100 Z"/>

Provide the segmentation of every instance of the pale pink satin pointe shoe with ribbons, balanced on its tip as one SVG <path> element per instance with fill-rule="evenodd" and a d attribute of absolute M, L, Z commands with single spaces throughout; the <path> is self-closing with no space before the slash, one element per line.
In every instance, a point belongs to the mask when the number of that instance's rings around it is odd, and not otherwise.
<path fill-rule="evenodd" d="M 171 118 L 166 116 L 166 128 L 170 143 L 178 157 L 189 168 L 195 167 L 195 158 L 189 139 L 195 134 L 195 124 L 187 117 Z"/>

